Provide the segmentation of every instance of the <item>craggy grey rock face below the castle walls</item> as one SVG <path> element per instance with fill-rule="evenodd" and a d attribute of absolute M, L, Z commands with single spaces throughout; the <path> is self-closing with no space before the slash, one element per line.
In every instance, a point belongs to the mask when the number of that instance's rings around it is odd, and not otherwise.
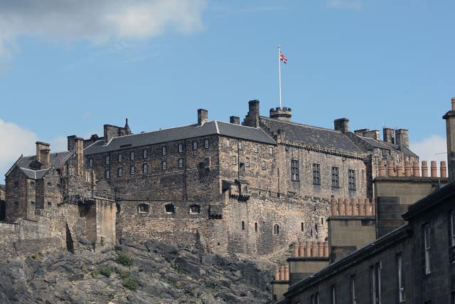
<path fill-rule="evenodd" d="M 122 239 L 104 253 L 80 245 L 86 249 L 4 262 L 0 302 L 265 303 L 271 295 L 271 264 L 152 241 Z"/>

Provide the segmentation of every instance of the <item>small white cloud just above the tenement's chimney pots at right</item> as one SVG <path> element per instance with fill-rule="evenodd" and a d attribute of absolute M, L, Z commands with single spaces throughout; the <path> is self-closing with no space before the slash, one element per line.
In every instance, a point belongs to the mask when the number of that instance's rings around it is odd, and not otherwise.
<path fill-rule="evenodd" d="M 410 150 L 419 156 L 420 161 L 427 160 L 428 166 L 432 160 L 437 161 L 438 168 L 441 160 L 447 161 L 446 137 L 432 135 L 431 137 L 425 138 L 419 142 L 411 142 Z"/>

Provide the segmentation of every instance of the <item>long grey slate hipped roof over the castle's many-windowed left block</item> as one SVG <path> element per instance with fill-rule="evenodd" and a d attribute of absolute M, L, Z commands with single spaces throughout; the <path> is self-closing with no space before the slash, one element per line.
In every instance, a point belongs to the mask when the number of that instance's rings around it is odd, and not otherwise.
<path fill-rule="evenodd" d="M 259 128 L 213 120 L 205 122 L 203 125 L 186 125 L 183 127 L 173 127 L 170 129 L 114 137 L 107 145 L 105 145 L 103 140 L 98 140 L 93 145 L 86 147 L 84 154 L 91 155 L 111 152 L 124 148 L 141 147 L 144 145 L 154 145 L 162 142 L 186 140 L 188 138 L 217 134 L 254 142 L 263 142 L 269 145 L 277 145 L 272 137 Z"/>

